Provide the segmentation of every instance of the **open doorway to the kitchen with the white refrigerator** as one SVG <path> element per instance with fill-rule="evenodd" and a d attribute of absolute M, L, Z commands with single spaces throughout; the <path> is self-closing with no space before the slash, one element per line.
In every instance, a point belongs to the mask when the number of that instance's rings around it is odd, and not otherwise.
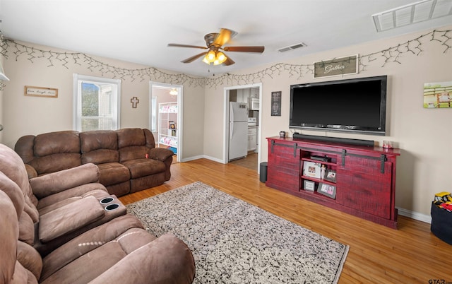
<path fill-rule="evenodd" d="M 248 167 L 259 172 L 261 162 L 261 100 L 262 84 L 239 85 L 225 88 L 225 148 L 223 149 L 224 163 L 232 162 L 236 165 Z M 246 107 L 246 129 L 237 128 L 234 109 L 242 112 Z M 242 117 L 242 115 L 240 115 Z M 235 131 L 241 129 L 244 133 L 237 136 Z M 237 146 L 242 149 L 237 155 Z M 243 147 L 244 146 L 244 147 Z M 244 148 L 244 149 L 243 149 Z M 233 150 L 232 150 L 233 149 Z"/>

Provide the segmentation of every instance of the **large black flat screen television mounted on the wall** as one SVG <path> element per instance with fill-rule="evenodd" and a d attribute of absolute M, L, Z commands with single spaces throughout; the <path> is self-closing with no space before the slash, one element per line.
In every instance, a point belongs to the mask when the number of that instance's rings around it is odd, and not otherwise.
<path fill-rule="evenodd" d="M 290 129 L 386 134 L 387 76 L 290 85 Z"/>

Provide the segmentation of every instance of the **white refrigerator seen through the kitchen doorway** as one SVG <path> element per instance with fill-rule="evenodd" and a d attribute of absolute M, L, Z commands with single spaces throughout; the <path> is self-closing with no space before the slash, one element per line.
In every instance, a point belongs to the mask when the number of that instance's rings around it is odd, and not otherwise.
<path fill-rule="evenodd" d="M 248 153 L 248 105 L 230 102 L 229 160 L 245 158 Z"/>

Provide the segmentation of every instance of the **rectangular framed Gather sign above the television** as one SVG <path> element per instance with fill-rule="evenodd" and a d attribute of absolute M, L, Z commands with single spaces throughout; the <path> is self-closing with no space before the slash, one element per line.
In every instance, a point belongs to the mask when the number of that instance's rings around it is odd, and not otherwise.
<path fill-rule="evenodd" d="M 314 78 L 358 73 L 358 55 L 314 62 Z"/>

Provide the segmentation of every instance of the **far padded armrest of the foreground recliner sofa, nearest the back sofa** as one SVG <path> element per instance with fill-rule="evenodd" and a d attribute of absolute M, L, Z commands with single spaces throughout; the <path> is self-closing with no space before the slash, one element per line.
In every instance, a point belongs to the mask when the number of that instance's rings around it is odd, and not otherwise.
<path fill-rule="evenodd" d="M 30 179 L 30 185 L 33 194 L 38 199 L 42 199 L 82 184 L 99 182 L 99 177 L 99 168 L 93 163 L 88 163 L 78 167 L 72 167 L 71 169 L 34 177 Z"/>

